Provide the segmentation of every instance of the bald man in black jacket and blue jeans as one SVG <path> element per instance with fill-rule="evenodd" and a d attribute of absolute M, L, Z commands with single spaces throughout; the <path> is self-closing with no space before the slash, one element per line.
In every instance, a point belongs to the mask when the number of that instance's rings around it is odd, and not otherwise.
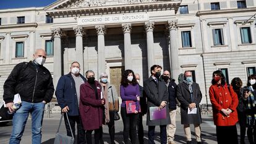
<path fill-rule="evenodd" d="M 34 60 L 21 62 L 12 70 L 4 83 L 4 101 L 10 112 L 14 113 L 11 143 L 20 143 L 28 115 L 32 116 L 32 143 L 41 143 L 41 127 L 45 104 L 53 98 L 53 78 L 43 67 L 46 52 L 36 49 Z M 22 100 L 19 109 L 14 109 L 14 95 L 19 93 Z"/>

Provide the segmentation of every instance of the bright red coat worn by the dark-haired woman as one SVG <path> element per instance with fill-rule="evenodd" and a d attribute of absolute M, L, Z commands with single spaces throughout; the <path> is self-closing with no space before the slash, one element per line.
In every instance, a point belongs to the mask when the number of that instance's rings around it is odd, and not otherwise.
<path fill-rule="evenodd" d="M 232 86 L 229 86 L 225 83 L 225 85 L 219 85 L 216 83 L 215 85 L 211 85 L 209 88 L 209 96 L 211 100 L 211 104 L 213 106 L 213 121 L 215 125 L 218 126 L 229 126 L 235 125 L 238 121 L 237 118 L 237 105 L 238 99 L 237 95 L 234 92 Z M 221 112 L 221 109 L 231 109 L 233 112 L 226 116 Z"/>

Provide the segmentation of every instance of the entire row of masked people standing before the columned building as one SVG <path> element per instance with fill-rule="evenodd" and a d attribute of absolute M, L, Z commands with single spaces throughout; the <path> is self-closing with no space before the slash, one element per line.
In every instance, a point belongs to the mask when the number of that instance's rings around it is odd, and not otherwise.
<path fill-rule="evenodd" d="M 17 64 L 4 83 L 3 98 L 9 112 L 14 114 L 11 144 L 20 143 L 29 114 L 32 116 L 32 143 L 41 143 L 45 104 L 51 101 L 54 93 L 51 73 L 43 66 L 45 60 L 45 51 L 37 49 L 33 61 Z M 120 96 L 124 143 L 129 143 L 129 138 L 131 143 L 137 143 L 137 139 L 140 144 L 144 143 L 142 117 L 147 114 L 148 143 L 155 143 L 155 127 L 159 125 L 161 144 L 175 144 L 177 105 L 181 108 L 181 124 L 184 125 L 187 143 L 192 143 L 190 124 L 194 125 L 197 143 L 202 143 L 199 107 L 202 93 L 199 85 L 193 82 L 192 72 L 185 71 L 184 78 L 179 78 L 176 85 L 170 72 L 165 70 L 161 74 L 161 70 L 159 65 L 151 66 L 151 75 L 143 82 L 143 87 L 139 85 L 139 74 L 134 74 L 133 70 L 123 72 Z M 209 95 L 219 144 L 238 143 L 237 121 L 241 128 L 241 144 L 245 143 L 246 127 L 250 144 L 256 143 L 255 79 L 256 75 L 250 75 L 247 86 L 242 87 L 242 80 L 236 77 L 228 85 L 220 70 L 213 72 Z M 17 93 L 22 101 L 19 109 L 13 103 Z M 104 124 L 108 125 L 111 144 L 114 144 L 114 120 L 119 111 L 117 95 L 114 85 L 108 82 L 108 74 L 100 74 L 97 81 L 95 73 L 87 70 L 83 77 L 79 62 L 72 62 L 69 74 L 59 78 L 56 87 L 61 112 L 67 115 L 64 117 L 67 135 L 75 135 L 76 124 L 77 143 L 91 144 L 94 131 L 95 143 L 103 144 Z M 127 101 L 134 103 L 134 112 L 127 112 Z M 153 108 L 161 111 L 160 117 L 154 116 Z"/>

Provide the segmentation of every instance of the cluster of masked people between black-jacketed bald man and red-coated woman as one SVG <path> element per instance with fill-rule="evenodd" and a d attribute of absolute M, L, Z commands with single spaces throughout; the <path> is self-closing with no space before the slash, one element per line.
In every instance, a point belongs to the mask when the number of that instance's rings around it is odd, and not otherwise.
<path fill-rule="evenodd" d="M 151 76 L 145 80 L 143 87 L 139 85 L 140 75 L 133 70 L 125 70 L 121 78 L 121 117 L 124 125 L 124 143 L 144 143 L 142 117 L 147 114 L 148 143 L 155 143 L 155 127 L 160 126 L 161 143 L 174 144 L 176 131 L 176 107 L 181 105 L 181 120 L 184 124 L 187 143 L 191 143 L 190 124 L 194 124 L 197 143 L 200 137 L 200 109 L 198 105 L 202 94 L 197 83 L 192 81 L 192 73 L 186 71 L 184 80 L 176 85 L 168 70 L 161 75 L 162 67 L 151 67 Z M 114 112 L 119 111 L 116 88 L 108 82 L 106 73 L 100 74 L 100 81 L 95 80 L 92 70 L 85 72 L 85 77 L 80 73 L 79 62 L 73 62 L 70 72 L 59 78 L 56 87 L 56 97 L 62 112 L 67 114 L 70 126 L 65 118 L 67 135 L 75 135 L 77 124 L 77 143 L 92 143 L 94 131 L 95 143 L 104 143 L 102 125 L 108 125 L 111 143 L 114 142 Z M 133 101 L 134 112 L 127 112 L 127 101 Z M 151 119 L 150 109 L 156 107 L 163 111 L 165 118 Z M 187 114 L 188 109 L 198 108 L 194 114 Z M 130 138 L 130 140 L 129 140 Z"/>

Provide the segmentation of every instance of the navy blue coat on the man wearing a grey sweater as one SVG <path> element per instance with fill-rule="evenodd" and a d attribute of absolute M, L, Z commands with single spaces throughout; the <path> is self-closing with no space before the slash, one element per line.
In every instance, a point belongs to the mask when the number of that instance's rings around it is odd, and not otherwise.
<path fill-rule="evenodd" d="M 80 74 L 83 82 L 87 80 Z M 75 81 L 71 73 L 62 75 L 59 78 L 58 85 L 55 91 L 61 109 L 69 106 L 69 116 L 79 116 L 79 101 L 77 100 L 77 90 L 75 89 Z"/>

